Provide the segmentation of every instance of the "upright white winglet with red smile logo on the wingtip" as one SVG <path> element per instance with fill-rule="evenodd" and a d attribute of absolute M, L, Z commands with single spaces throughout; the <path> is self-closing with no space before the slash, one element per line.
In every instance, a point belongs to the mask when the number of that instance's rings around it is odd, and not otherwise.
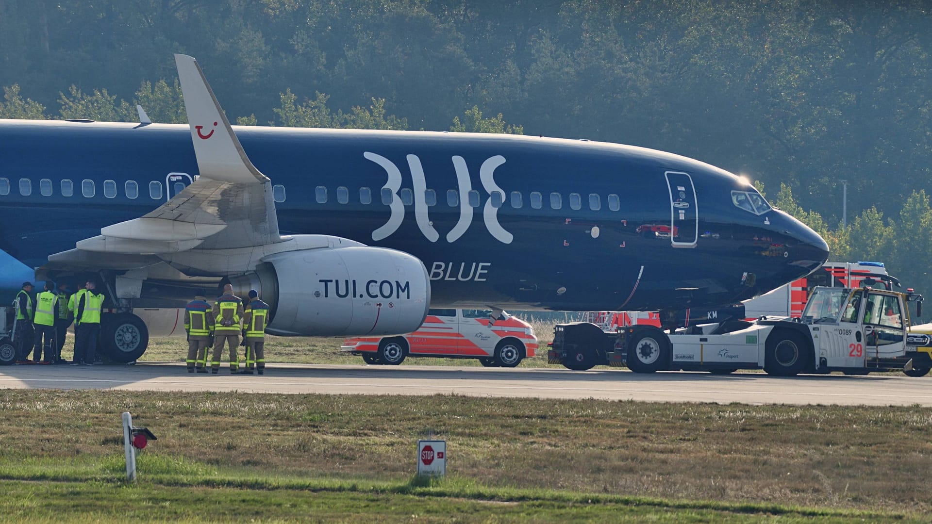
<path fill-rule="evenodd" d="M 176 54 L 175 64 L 200 176 L 238 184 L 268 182 L 268 177 L 255 169 L 246 156 L 198 62 Z"/>

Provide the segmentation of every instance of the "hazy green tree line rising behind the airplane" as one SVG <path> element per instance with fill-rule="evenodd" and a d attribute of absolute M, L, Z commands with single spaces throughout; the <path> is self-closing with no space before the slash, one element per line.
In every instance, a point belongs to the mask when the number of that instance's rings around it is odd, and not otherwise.
<path fill-rule="evenodd" d="M 833 260 L 932 290 L 929 27 L 926 0 L 0 0 L 0 115 L 183 121 L 185 52 L 241 124 L 702 159 L 771 189 Z"/>

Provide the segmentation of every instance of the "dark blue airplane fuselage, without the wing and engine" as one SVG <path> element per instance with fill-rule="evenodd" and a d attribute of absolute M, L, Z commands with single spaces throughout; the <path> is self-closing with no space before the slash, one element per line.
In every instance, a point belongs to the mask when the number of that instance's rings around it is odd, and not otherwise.
<path fill-rule="evenodd" d="M 276 204 L 282 234 L 336 235 L 418 256 L 431 274 L 435 305 L 706 307 L 760 295 L 828 256 L 825 242 L 787 214 L 739 207 L 732 192 L 754 191 L 743 179 L 650 149 L 431 131 L 236 132 L 254 165 L 283 187 L 276 188 L 284 196 Z M 390 222 L 391 206 L 382 200 L 390 176 L 366 153 L 401 174 L 390 198 L 403 200 L 404 218 L 379 240 L 373 232 Z M 483 164 L 496 156 L 504 163 L 483 180 Z M 462 190 L 457 157 L 473 195 Z M 418 164 L 433 205 L 411 199 Z M 0 120 L 0 166 L 5 289 L 18 289 L 25 270 L 46 264 L 48 255 L 164 203 L 174 184 L 188 183 L 184 175 L 169 180 L 170 173 L 198 173 L 187 126 L 160 124 Z M 62 195 L 63 180 L 74 187 L 70 197 Z M 92 196 L 82 194 L 91 186 L 84 181 L 92 182 Z M 138 187 L 135 199 L 128 197 L 130 181 Z M 150 195 L 154 183 L 160 196 Z M 448 200 L 451 191 L 456 201 Z M 464 218 L 461 200 L 471 199 L 478 207 Z M 490 199 L 510 242 L 493 234 Z M 425 213 L 418 225 L 416 215 Z M 465 232 L 448 239 L 463 220 Z M 425 229 L 436 231 L 435 241 Z"/>

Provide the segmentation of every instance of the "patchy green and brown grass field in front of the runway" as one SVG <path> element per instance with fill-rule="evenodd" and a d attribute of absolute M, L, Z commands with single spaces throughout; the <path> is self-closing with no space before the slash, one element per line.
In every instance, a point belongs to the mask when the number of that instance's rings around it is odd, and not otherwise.
<path fill-rule="evenodd" d="M 431 434 L 451 479 L 419 486 Z M 2 391 L 0 520 L 929 521 L 930 437 L 921 407 Z"/>

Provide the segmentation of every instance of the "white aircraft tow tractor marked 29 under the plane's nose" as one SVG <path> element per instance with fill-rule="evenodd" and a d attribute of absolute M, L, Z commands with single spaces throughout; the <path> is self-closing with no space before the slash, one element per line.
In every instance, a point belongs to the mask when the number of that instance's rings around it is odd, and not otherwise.
<path fill-rule="evenodd" d="M 907 303 L 922 296 L 873 289 L 873 279 L 863 287 L 816 287 L 801 319 L 728 321 L 680 328 L 667 334 L 651 326 L 634 326 L 616 334 L 586 327 L 587 335 L 573 331 L 593 324 L 564 324 L 555 332 L 552 363 L 570 369 L 599 364 L 599 348 L 610 349 L 609 365 L 627 365 L 632 371 L 662 370 L 732 373 L 738 369 L 763 368 L 770 375 L 843 371 L 862 375 L 870 371 L 911 369 L 906 357 L 906 333 L 910 327 Z M 569 334 L 569 337 L 568 337 Z M 567 339 L 577 343 L 567 343 Z M 584 338 L 588 340 L 580 343 Z M 590 351 L 594 349 L 595 351 Z"/>

